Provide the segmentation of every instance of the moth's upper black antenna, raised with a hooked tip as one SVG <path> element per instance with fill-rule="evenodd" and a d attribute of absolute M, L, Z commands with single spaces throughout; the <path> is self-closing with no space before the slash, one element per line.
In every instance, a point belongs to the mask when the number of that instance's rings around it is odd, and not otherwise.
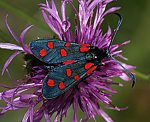
<path fill-rule="evenodd" d="M 120 28 L 120 25 L 121 25 L 121 23 L 123 21 L 123 17 L 119 13 L 115 13 L 115 15 L 117 15 L 119 17 L 119 20 L 118 20 L 117 27 L 116 27 L 116 29 L 113 32 L 113 37 L 112 37 L 112 39 L 111 39 L 111 41 L 109 43 L 108 50 L 110 49 L 110 46 L 112 45 L 112 43 L 113 43 L 113 41 L 114 41 L 114 39 L 116 37 L 116 34 L 117 34 L 117 32 L 118 32 L 118 30 Z"/>

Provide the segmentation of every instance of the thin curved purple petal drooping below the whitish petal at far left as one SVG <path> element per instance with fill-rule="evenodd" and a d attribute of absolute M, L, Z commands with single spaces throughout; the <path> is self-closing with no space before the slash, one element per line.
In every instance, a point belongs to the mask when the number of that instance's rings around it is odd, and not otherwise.
<path fill-rule="evenodd" d="M 17 51 L 15 53 L 13 53 L 9 58 L 8 60 L 6 61 L 6 63 L 4 64 L 4 67 L 2 69 L 2 75 L 4 74 L 5 70 L 7 69 L 8 65 L 12 62 L 12 60 L 17 56 L 19 55 L 21 52 L 20 51 Z"/>

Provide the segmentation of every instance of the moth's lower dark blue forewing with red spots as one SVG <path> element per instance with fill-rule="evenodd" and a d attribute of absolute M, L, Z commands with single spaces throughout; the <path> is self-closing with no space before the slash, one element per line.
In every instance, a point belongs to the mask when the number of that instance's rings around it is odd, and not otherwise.
<path fill-rule="evenodd" d="M 43 80 L 43 96 L 46 99 L 56 98 L 90 75 L 96 68 L 97 66 L 86 60 L 54 68 Z"/>

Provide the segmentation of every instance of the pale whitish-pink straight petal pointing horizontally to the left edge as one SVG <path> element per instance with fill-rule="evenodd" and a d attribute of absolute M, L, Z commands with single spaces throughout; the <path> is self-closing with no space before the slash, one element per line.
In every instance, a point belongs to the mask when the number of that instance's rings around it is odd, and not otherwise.
<path fill-rule="evenodd" d="M 0 48 L 8 50 L 19 50 L 23 51 L 23 48 L 11 43 L 0 43 Z"/>

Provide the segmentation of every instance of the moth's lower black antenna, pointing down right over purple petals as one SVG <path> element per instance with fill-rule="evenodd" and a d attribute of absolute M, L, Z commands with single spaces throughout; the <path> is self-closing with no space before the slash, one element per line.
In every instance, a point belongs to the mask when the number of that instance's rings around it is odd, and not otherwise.
<path fill-rule="evenodd" d="M 135 83 L 136 83 L 136 77 L 133 73 L 131 73 L 128 69 L 126 69 L 118 60 L 116 60 L 114 57 L 110 56 L 117 64 L 119 64 L 124 72 L 128 75 L 129 78 L 132 79 L 132 87 L 134 87 Z"/>

